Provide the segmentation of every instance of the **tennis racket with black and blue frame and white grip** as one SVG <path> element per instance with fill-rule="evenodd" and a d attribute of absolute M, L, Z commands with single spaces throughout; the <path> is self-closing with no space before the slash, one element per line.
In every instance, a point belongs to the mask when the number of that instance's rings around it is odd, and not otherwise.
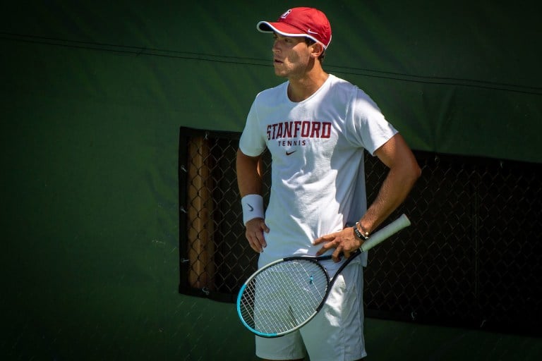
<path fill-rule="evenodd" d="M 402 214 L 373 233 L 371 238 L 337 269 L 410 225 Z M 330 279 L 320 261 L 331 255 L 293 256 L 265 265 L 243 283 L 237 296 L 237 313 L 244 326 L 262 337 L 279 337 L 300 329 L 323 307 L 336 277 Z"/>

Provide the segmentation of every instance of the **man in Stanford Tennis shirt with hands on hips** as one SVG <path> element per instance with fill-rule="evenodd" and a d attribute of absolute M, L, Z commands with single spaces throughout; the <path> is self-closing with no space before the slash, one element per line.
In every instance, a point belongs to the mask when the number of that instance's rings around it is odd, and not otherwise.
<path fill-rule="evenodd" d="M 289 255 L 332 252 L 325 267 L 361 246 L 410 192 L 421 170 L 397 130 L 358 87 L 323 70 L 331 27 L 315 8 L 291 8 L 272 33 L 275 74 L 287 81 L 260 92 L 239 141 L 236 169 L 246 238 L 260 252 L 259 267 Z M 270 202 L 264 212 L 260 155 L 272 154 Z M 363 151 L 389 168 L 367 208 Z M 356 223 L 357 222 L 357 223 Z M 363 341 L 363 267 L 366 254 L 337 275 L 325 307 L 300 331 L 256 336 L 265 360 L 353 361 Z M 305 352 L 306 350 L 306 352 Z"/>

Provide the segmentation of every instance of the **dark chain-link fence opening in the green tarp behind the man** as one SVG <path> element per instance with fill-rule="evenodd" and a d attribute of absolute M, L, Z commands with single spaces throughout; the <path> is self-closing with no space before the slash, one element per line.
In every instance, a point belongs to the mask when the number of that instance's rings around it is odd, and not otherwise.
<path fill-rule="evenodd" d="M 255 271 L 236 183 L 238 142 L 239 133 L 180 130 L 180 293 L 234 302 Z M 412 226 L 370 252 L 368 316 L 539 334 L 542 166 L 414 153 L 422 176 L 389 219 L 405 213 Z M 263 169 L 268 197 L 269 154 Z M 366 154 L 369 204 L 385 176 Z"/>

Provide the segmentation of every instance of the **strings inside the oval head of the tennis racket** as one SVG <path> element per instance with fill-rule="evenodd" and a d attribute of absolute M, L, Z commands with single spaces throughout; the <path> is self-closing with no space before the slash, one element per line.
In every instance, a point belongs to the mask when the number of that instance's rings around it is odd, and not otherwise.
<path fill-rule="evenodd" d="M 258 333 L 285 333 L 315 314 L 328 281 L 325 269 L 311 260 L 274 264 L 247 283 L 241 295 L 241 317 Z"/>

